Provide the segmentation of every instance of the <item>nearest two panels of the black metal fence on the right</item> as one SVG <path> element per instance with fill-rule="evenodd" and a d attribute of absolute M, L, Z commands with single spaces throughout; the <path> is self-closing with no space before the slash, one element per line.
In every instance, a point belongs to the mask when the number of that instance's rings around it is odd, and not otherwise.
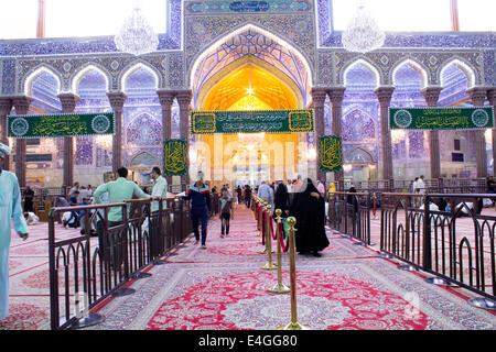
<path fill-rule="evenodd" d="M 381 196 L 382 253 L 495 300 L 496 216 L 482 215 L 484 199 L 495 195 Z"/>

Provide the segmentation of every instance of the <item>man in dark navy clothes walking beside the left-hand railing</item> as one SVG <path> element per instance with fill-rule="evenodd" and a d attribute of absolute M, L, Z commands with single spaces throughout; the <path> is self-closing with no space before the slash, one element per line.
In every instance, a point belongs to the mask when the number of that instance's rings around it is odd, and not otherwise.
<path fill-rule="evenodd" d="M 202 250 L 206 250 L 208 213 L 211 212 L 211 190 L 203 180 L 203 173 L 198 172 L 198 180 L 190 186 L 185 200 L 191 199 L 191 220 L 197 244 L 200 242 L 198 221 L 202 222 Z"/>

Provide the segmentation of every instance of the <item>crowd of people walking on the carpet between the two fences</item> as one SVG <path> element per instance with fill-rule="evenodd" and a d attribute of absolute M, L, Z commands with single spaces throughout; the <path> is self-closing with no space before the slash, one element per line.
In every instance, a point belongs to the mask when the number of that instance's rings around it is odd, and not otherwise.
<path fill-rule="evenodd" d="M 292 194 L 292 196 L 290 196 Z M 204 180 L 204 174 L 198 172 L 196 182 L 187 189 L 184 199 L 191 200 L 191 219 L 195 234 L 195 244 L 201 243 L 206 249 L 208 220 L 220 220 L 220 238 L 229 235 L 229 221 L 234 217 L 235 206 L 251 207 L 252 195 L 283 211 L 283 218 L 296 217 L 296 250 L 301 254 L 320 256 L 320 251 L 328 245 L 325 234 L 325 188 L 317 182 L 317 186 L 310 178 L 298 177 L 294 180 L 276 183 L 261 182 L 251 188 L 249 185 L 238 185 L 233 193 L 225 184 L 217 190 L 212 190 Z M 200 230 L 201 226 L 201 230 Z"/>

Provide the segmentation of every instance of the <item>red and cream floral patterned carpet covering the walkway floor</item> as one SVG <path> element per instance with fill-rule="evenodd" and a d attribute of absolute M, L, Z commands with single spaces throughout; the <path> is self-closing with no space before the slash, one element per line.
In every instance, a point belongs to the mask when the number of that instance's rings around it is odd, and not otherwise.
<path fill-rule="evenodd" d="M 133 295 L 109 298 L 97 307 L 95 311 L 106 319 L 88 329 L 272 330 L 289 323 L 290 295 L 266 292 L 277 283 L 277 272 L 260 270 L 267 255 L 258 253 L 263 246 L 251 212 L 237 208 L 229 237 L 220 239 L 219 234 L 219 220 L 209 221 L 207 250 L 188 238 L 166 264 L 149 268 L 151 277 L 132 283 Z M 310 329 L 496 328 L 495 315 L 471 307 L 461 292 L 429 285 L 420 274 L 399 271 L 399 262 L 379 258 L 374 248 L 354 245 L 331 230 L 327 237 L 331 245 L 322 257 L 296 255 L 298 317 Z M 0 329 L 47 328 L 44 239 L 46 226 L 40 226 L 29 243 L 12 243 L 11 316 L 0 320 Z M 284 253 L 287 285 L 288 270 Z"/>

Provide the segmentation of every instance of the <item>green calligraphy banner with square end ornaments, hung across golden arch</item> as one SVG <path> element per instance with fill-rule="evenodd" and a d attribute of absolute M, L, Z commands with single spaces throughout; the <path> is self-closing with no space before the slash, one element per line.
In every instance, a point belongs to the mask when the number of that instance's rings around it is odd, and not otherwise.
<path fill-rule="evenodd" d="M 313 132 L 313 109 L 192 111 L 191 133 Z"/>

